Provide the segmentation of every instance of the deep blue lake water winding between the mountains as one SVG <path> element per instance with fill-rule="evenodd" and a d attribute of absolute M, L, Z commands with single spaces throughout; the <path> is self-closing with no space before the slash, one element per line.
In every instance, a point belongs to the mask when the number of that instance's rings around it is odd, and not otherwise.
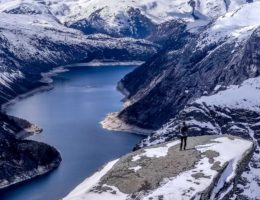
<path fill-rule="evenodd" d="M 53 90 L 10 106 L 8 114 L 44 129 L 30 139 L 54 146 L 63 161 L 57 170 L 8 189 L 0 199 L 60 199 L 107 161 L 130 152 L 142 136 L 107 131 L 99 122 L 121 108 L 116 83 L 131 70 L 133 66 L 75 67 L 54 78 Z"/>

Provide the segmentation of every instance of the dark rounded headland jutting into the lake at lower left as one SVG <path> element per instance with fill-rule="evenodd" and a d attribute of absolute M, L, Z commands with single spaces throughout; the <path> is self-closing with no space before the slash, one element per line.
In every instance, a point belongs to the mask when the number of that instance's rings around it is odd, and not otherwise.
<path fill-rule="evenodd" d="M 61 162 L 59 152 L 47 145 L 31 140 L 16 139 L 17 133 L 28 127 L 28 122 L 0 114 L 0 189 L 39 175 L 43 175 Z"/>

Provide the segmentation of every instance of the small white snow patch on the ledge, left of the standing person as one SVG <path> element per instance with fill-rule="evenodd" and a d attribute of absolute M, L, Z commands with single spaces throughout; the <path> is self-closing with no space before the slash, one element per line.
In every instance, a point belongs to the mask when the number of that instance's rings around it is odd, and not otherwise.
<path fill-rule="evenodd" d="M 141 157 L 148 157 L 148 158 L 165 157 L 168 154 L 169 148 L 174 147 L 179 143 L 180 143 L 180 141 L 176 140 L 176 141 L 173 141 L 173 142 L 166 144 L 163 147 L 155 147 L 155 148 L 144 149 L 145 152 L 142 153 L 142 154 L 138 154 L 136 156 L 133 156 L 132 161 L 135 162 L 135 161 L 141 159 Z"/>

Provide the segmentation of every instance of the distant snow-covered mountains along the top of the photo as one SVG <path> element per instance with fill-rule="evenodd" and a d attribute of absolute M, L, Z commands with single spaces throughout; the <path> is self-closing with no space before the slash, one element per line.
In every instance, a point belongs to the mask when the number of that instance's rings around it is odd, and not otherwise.
<path fill-rule="evenodd" d="M 51 15 L 85 33 L 149 36 L 157 25 L 174 19 L 209 23 L 251 0 L 1 0 L 0 12 Z M 199 23 L 198 23 L 199 22 Z"/>

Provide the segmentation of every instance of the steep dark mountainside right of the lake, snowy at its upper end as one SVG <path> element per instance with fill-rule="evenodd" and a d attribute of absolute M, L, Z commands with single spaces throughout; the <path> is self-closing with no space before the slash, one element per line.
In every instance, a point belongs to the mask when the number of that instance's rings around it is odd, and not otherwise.
<path fill-rule="evenodd" d="M 202 33 L 186 31 L 173 37 L 164 52 L 121 80 L 119 88 L 127 95 L 128 107 L 118 117 L 141 128 L 158 129 L 187 103 L 213 94 L 217 86 L 257 77 L 259 10 L 260 2 L 247 4 Z"/>

